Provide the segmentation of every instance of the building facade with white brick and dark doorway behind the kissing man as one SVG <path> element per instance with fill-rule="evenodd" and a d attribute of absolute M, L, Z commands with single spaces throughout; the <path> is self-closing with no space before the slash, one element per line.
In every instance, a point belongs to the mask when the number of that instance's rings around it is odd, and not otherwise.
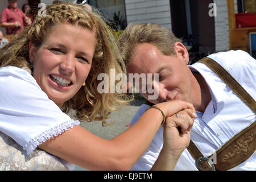
<path fill-rule="evenodd" d="M 179 38 L 192 34 L 199 52 L 229 50 L 226 0 L 125 0 L 125 6 L 127 24 L 158 23 Z M 212 12 L 216 14 L 209 16 Z"/>

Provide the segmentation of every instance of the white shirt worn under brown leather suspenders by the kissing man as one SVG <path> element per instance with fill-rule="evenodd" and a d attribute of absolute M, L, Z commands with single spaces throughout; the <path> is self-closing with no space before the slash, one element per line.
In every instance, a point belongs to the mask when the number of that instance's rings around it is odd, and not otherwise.
<path fill-rule="evenodd" d="M 256 100 L 256 60 L 253 57 L 243 51 L 218 52 L 208 57 L 224 67 Z M 212 94 L 212 101 L 210 101 L 204 113 L 196 112 L 197 118 L 191 131 L 193 142 L 204 156 L 209 156 L 230 138 L 253 123 L 256 117 L 253 111 L 206 65 L 195 63 L 189 68 L 192 72 L 198 71 L 205 78 Z M 138 120 L 148 107 L 148 105 L 142 105 L 139 108 L 131 121 L 131 125 Z M 150 170 L 162 147 L 163 128 L 160 128 L 147 151 L 132 170 Z M 255 171 L 255 169 L 256 153 L 254 152 L 249 159 L 230 170 Z M 197 170 L 195 160 L 187 149 L 181 154 L 175 170 Z"/>

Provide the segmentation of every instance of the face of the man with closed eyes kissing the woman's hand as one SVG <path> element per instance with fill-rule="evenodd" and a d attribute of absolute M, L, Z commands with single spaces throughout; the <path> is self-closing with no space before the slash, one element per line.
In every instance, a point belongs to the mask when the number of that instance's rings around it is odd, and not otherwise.
<path fill-rule="evenodd" d="M 175 49 L 177 56 L 165 56 L 152 44 L 138 44 L 132 63 L 128 66 L 129 73 L 133 74 L 158 73 L 159 81 L 155 82 L 152 79 L 152 87 L 159 91 L 158 98 L 150 100 L 148 96 L 152 94 L 141 93 L 154 104 L 176 99 L 191 102 L 191 72 L 187 67 L 188 55 L 185 55 L 187 58 L 184 56 L 187 50 L 181 43 L 177 45 L 179 45 Z M 143 87 L 141 83 L 140 86 Z"/>

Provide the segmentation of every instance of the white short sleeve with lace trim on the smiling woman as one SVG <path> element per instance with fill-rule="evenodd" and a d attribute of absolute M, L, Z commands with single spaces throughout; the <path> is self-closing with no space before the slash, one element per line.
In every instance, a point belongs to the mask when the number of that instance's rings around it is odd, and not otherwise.
<path fill-rule="evenodd" d="M 30 73 L 17 67 L 0 68 L 0 131 L 28 155 L 47 139 L 79 124 L 49 100 Z M 75 164 L 52 157 L 75 168 Z"/>

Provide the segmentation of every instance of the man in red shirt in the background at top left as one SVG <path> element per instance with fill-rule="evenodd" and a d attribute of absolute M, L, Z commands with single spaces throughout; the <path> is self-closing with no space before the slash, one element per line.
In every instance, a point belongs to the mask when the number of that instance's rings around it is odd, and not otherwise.
<path fill-rule="evenodd" d="M 31 25 L 31 19 L 28 18 L 17 5 L 16 0 L 8 0 L 9 6 L 1 13 L 1 27 L 6 27 L 6 34 L 19 34 L 24 29 L 23 21 Z"/>

